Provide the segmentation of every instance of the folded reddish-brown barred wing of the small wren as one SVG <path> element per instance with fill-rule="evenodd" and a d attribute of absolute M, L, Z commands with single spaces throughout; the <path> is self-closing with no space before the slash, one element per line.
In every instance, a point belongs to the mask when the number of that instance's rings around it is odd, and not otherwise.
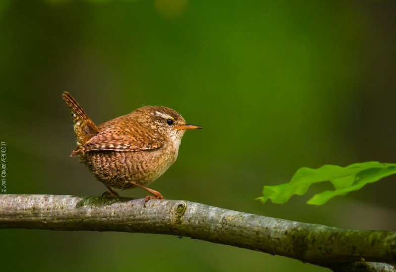
<path fill-rule="evenodd" d="M 142 131 L 122 131 L 109 129 L 99 132 L 89 139 L 81 148 L 73 151 L 71 156 L 88 151 L 144 151 L 160 148 L 164 138 L 154 130 L 148 128 Z"/>

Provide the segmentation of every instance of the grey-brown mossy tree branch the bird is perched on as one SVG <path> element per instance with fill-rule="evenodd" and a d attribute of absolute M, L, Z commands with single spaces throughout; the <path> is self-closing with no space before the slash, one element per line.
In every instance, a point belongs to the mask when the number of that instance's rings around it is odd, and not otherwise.
<path fill-rule="evenodd" d="M 396 261 L 396 232 L 307 224 L 189 201 L 150 200 L 144 207 L 142 199 L 124 197 L 0 195 L 0 228 L 187 236 L 334 271 L 395 271 L 391 265 L 370 262 Z M 361 270 L 364 266 L 367 269 Z"/>

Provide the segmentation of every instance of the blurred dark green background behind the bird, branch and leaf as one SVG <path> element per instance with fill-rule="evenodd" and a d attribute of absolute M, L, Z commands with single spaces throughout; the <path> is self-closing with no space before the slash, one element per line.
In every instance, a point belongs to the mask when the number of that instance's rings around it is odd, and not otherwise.
<path fill-rule="evenodd" d="M 7 193 L 105 191 L 69 157 L 69 91 L 97 124 L 163 105 L 204 128 L 186 133 L 175 165 L 151 184 L 168 199 L 395 231 L 396 177 L 321 207 L 305 204 L 320 185 L 284 205 L 254 200 L 302 166 L 396 162 L 395 12 L 395 1 L 372 0 L 1 0 Z M 164 235 L 0 238 L 1 271 L 328 271 Z"/>

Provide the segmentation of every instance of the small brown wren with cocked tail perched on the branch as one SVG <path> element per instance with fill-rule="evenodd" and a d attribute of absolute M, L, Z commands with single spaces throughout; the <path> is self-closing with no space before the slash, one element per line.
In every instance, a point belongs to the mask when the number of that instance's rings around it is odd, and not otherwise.
<path fill-rule="evenodd" d="M 77 148 L 70 156 L 79 156 L 109 189 L 103 195 L 119 196 L 113 188 L 140 187 L 153 194 L 146 196 L 145 202 L 164 199 L 146 186 L 176 161 L 185 130 L 201 127 L 186 124 L 173 109 L 153 106 L 97 127 L 68 92 L 63 93 L 63 100 L 70 109 L 77 136 Z"/>

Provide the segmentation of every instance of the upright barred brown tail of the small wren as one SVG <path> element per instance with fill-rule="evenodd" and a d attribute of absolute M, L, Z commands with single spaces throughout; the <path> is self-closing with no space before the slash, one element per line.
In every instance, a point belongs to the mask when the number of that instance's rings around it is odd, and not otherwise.
<path fill-rule="evenodd" d="M 74 123 L 74 132 L 77 136 L 77 149 L 71 154 L 71 156 L 75 156 L 79 153 L 78 150 L 80 147 L 98 133 L 98 128 L 70 93 L 65 91 L 62 97 L 67 107 L 70 109 Z"/>

